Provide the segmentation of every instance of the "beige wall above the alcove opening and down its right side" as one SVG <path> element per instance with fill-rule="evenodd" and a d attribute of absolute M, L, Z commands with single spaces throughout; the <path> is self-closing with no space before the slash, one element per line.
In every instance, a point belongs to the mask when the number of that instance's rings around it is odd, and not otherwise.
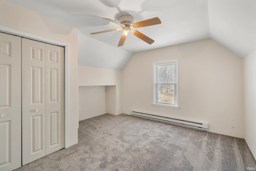
<path fill-rule="evenodd" d="M 107 85 L 106 113 L 113 115 L 122 113 L 121 76 L 121 71 L 78 66 L 78 86 Z"/>

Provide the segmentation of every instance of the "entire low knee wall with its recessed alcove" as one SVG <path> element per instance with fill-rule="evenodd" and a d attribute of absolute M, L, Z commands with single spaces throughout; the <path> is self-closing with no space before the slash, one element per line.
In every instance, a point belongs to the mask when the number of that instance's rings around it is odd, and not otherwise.
<path fill-rule="evenodd" d="M 79 121 L 122 113 L 121 82 L 122 71 L 78 66 Z"/>

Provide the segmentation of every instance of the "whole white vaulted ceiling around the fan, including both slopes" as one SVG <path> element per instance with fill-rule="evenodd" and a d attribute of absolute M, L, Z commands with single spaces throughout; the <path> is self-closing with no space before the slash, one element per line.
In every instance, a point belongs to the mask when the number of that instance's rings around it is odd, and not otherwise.
<path fill-rule="evenodd" d="M 94 52 L 89 57 L 112 54 L 116 66 L 105 68 L 122 70 L 136 52 L 173 46 L 212 38 L 241 58 L 256 50 L 256 0 L 8 0 L 43 16 L 77 28 L 80 33 L 78 54 L 84 54 L 85 44 Z M 134 22 L 160 18 L 162 24 L 137 28 L 155 40 L 151 45 L 131 33 L 124 46 L 117 47 L 122 31 L 91 35 L 91 32 L 121 28 L 103 20 L 118 22 L 123 14 L 130 14 Z M 49 25 L 49 29 L 52 29 Z M 68 31 L 61 34 L 68 34 Z M 102 47 L 108 47 L 103 48 Z M 101 51 L 101 52 L 99 52 Z M 115 53 L 117 52 L 117 53 Z M 101 54 L 97 54 L 101 53 Z M 96 54 L 96 55 L 95 55 Z M 123 56 L 120 58 L 120 56 Z M 96 61 L 84 57 L 81 63 L 97 66 Z M 79 57 L 80 58 L 80 57 Z M 86 60 L 86 58 L 88 58 Z M 78 59 L 79 60 L 79 59 Z M 124 62 L 122 62 L 124 61 Z M 112 63 L 111 63 L 112 64 Z M 83 64 L 82 64 L 83 65 Z"/>

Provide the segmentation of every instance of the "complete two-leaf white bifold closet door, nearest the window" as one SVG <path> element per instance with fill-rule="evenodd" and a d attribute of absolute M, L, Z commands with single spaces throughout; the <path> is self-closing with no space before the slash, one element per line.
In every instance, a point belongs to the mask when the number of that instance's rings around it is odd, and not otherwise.
<path fill-rule="evenodd" d="M 64 48 L 22 38 L 22 165 L 64 148 Z"/>

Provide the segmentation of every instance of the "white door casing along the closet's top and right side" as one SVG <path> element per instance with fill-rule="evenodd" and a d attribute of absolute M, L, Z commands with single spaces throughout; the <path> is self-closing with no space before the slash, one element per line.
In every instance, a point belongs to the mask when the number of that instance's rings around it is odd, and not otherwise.
<path fill-rule="evenodd" d="M 35 34 L 32 34 L 32 33 L 28 33 L 28 32 L 23 32 L 23 31 L 20 31 L 20 30 L 16 30 L 14 28 L 9 28 L 9 27 L 6 27 L 6 26 L 1 26 L 0 25 L 0 32 L 4 32 L 4 33 L 7 33 L 7 34 L 13 34 L 15 36 L 20 36 L 20 37 L 23 37 L 23 38 L 29 38 L 29 39 L 32 39 L 32 40 L 37 40 L 37 41 L 40 41 L 40 42 L 44 42 L 44 43 L 48 43 L 48 44 L 54 44 L 54 45 L 58 45 L 58 46 L 64 46 L 64 79 L 65 79 L 65 82 L 64 82 L 64 88 L 65 88 L 65 99 L 64 99 L 64 103 L 65 103 L 65 148 L 68 148 L 69 147 L 69 111 L 68 111 L 68 105 L 69 105 L 69 101 L 68 101 L 68 94 L 69 94 L 69 83 L 68 83 L 68 59 L 69 59 L 69 56 L 68 56 L 68 44 L 65 43 L 65 42 L 60 42 L 58 40 L 53 40 L 53 39 L 50 39 L 50 38 L 45 38 L 45 37 L 42 37 L 42 36 L 38 36 L 38 35 L 35 35 Z"/>

